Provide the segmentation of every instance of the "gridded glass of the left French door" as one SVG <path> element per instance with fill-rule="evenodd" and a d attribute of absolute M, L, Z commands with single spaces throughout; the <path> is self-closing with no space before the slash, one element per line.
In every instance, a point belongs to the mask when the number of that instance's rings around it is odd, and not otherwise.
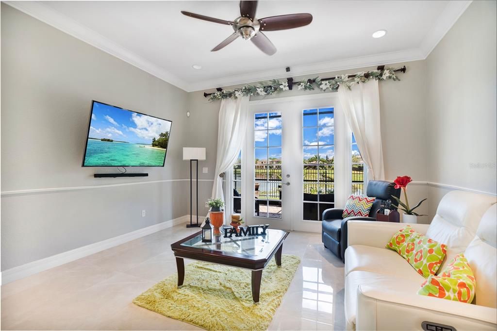
<path fill-rule="evenodd" d="M 254 115 L 254 216 L 281 219 L 281 113 Z"/>

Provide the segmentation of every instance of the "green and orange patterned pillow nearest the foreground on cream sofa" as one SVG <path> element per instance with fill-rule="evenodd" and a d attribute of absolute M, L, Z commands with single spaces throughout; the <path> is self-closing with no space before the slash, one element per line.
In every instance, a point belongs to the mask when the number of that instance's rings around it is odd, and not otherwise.
<path fill-rule="evenodd" d="M 431 275 L 417 294 L 471 303 L 475 297 L 476 280 L 464 254 L 454 257 L 440 275 Z"/>

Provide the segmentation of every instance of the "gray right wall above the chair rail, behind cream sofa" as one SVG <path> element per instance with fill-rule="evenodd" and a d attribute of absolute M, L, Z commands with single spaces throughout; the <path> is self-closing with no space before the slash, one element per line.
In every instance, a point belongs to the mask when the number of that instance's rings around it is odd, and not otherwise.
<path fill-rule="evenodd" d="M 426 59 L 428 180 L 494 194 L 496 3 L 473 1 Z"/>

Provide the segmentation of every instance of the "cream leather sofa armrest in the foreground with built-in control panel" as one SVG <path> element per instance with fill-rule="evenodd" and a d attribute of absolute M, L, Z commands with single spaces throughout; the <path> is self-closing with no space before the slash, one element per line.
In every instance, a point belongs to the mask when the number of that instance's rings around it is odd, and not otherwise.
<path fill-rule="evenodd" d="M 421 330 L 423 322 L 496 330 L 497 309 L 368 285 L 357 288 L 356 330 Z"/>

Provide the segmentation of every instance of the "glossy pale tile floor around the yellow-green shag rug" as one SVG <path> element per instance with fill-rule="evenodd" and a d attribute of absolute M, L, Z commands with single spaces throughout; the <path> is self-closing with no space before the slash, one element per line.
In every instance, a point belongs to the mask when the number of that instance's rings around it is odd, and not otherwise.
<path fill-rule="evenodd" d="M 175 226 L 1 286 L 1 329 L 201 330 L 132 303 L 176 272 L 170 244 L 195 231 Z M 321 235 L 292 232 L 283 253 L 302 263 L 269 330 L 344 330 L 343 263 Z"/>

